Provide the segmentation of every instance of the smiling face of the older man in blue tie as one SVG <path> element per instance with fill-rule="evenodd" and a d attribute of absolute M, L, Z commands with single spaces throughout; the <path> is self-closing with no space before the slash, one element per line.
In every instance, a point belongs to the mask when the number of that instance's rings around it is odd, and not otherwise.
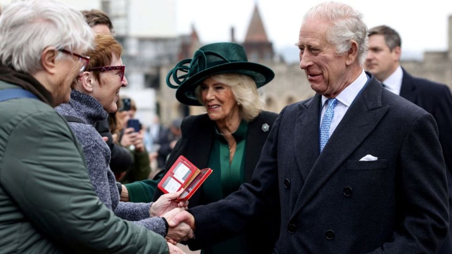
<path fill-rule="evenodd" d="M 348 84 L 345 56 L 335 53 L 334 45 L 327 41 L 326 32 L 331 24 L 319 18 L 305 20 L 300 28 L 300 68 L 305 70 L 312 90 L 334 97 Z"/>

